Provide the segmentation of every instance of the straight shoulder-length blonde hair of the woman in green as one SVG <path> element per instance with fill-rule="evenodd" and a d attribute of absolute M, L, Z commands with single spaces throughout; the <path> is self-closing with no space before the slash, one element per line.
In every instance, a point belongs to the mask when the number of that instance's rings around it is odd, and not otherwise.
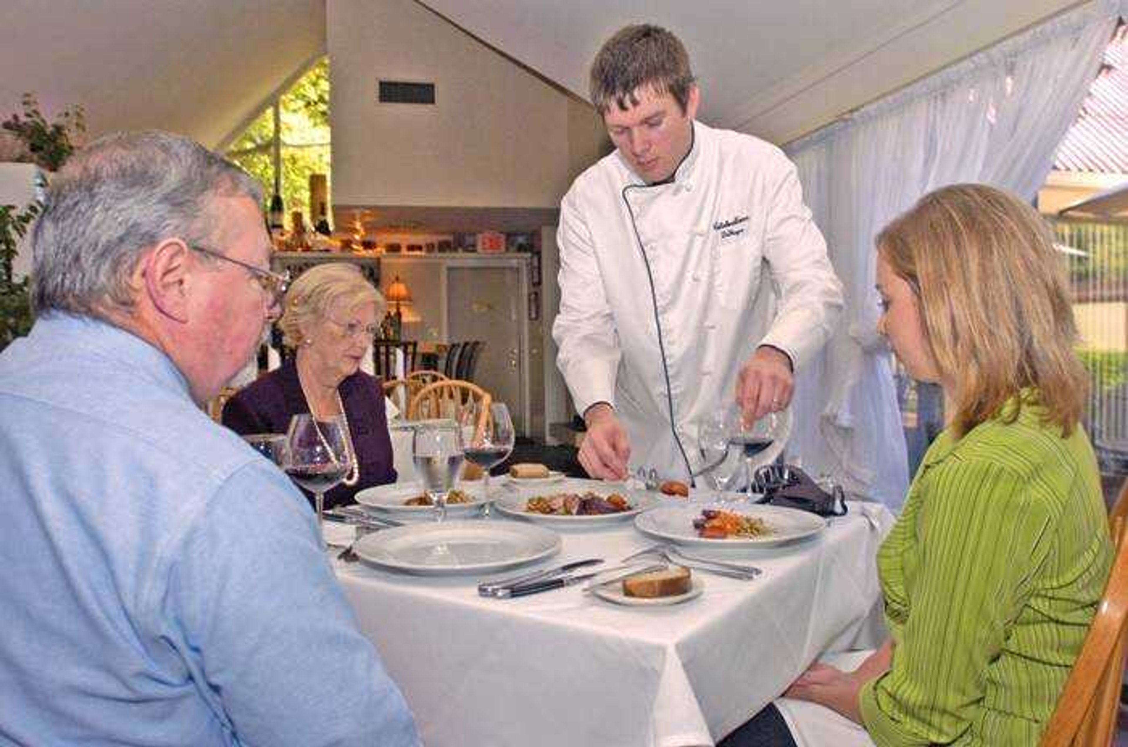
<path fill-rule="evenodd" d="M 944 187 L 885 226 L 876 246 L 917 295 L 933 358 L 953 388 L 958 436 L 995 416 L 1013 423 L 1028 388 L 1046 423 L 1073 432 L 1089 381 L 1073 349 L 1065 269 L 1030 205 L 986 185 Z M 1017 407 L 1003 412 L 1012 398 Z"/>

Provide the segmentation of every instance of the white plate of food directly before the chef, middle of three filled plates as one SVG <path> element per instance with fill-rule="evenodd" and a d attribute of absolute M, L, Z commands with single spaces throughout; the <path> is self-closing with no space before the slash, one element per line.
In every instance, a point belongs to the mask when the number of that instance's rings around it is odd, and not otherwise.
<path fill-rule="evenodd" d="M 506 516 L 558 526 L 614 524 L 658 505 L 656 498 L 626 490 L 521 490 L 494 499 Z"/>

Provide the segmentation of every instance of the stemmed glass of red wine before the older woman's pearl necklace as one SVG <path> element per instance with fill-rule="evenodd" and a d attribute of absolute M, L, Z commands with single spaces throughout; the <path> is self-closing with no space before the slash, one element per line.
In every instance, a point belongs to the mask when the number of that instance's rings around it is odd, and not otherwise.
<path fill-rule="evenodd" d="M 325 513 L 325 493 L 349 474 L 353 453 L 343 416 L 317 420 L 309 412 L 290 418 L 282 469 L 290 479 L 314 493 L 317 525 Z"/>

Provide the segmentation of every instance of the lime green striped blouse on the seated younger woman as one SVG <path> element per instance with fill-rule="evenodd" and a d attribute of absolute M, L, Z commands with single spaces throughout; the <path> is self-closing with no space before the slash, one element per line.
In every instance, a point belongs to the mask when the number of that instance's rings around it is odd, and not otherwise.
<path fill-rule="evenodd" d="M 880 747 L 1032 747 L 1054 711 L 1112 546 L 1085 433 L 1041 412 L 925 454 L 878 553 L 893 659 L 861 711 Z"/>

